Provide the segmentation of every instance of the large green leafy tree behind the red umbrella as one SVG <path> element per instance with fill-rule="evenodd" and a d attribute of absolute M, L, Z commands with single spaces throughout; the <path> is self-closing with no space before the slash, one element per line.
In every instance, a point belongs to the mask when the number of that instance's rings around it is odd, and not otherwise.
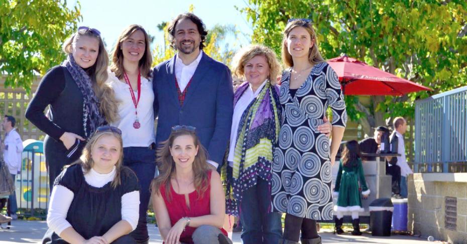
<path fill-rule="evenodd" d="M 370 107 L 346 96 L 349 118 L 364 132 L 394 116 L 413 118 L 414 101 L 467 84 L 467 2 L 429 0 L 249 0 L 241 10 L 253 23 L 253 40 L 280 54 L 290 18 L 311 19 L 323 57 L 346 53 L 417 82 L 432 92 L 372 96 Z"/>

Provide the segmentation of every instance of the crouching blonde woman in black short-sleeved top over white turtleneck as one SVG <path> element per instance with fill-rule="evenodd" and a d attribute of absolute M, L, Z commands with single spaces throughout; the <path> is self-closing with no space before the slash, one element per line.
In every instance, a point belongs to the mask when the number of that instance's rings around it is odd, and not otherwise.
<path fill-rule="evenodd" d="M 55 179 L 42 243 L 136 243 L 139 184 L 123 166 L 122 132 L 102 126 Z"/>

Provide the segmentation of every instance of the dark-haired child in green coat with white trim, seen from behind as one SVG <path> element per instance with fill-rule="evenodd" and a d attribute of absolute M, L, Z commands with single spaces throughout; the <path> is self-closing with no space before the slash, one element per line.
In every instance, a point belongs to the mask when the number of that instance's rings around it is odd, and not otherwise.
<path fill-rule="evenodd" d="M 338 234 L 343 233 L 343 212 L 352 212 L 353 235 L 361 235 L 359 212 L 363 212 L 362 200 L 360 198 L 360 185 L 363 198 L 367 199 L 370 189 L 365 181 L 359 143 L 356 140 L 345 143 L 340 158 L 339 171 L 335 181 L 334 195 L 337 195 L 337 204 L 334 205 L 336 213 L 335 228 Z"/>

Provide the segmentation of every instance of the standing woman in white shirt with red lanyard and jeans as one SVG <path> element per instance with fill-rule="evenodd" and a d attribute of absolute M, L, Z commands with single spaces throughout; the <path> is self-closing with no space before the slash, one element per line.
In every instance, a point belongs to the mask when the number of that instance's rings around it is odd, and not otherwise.
<path fill-rule="evenodd" d="M 119 120 L 111 125 L 122 130 L 123 163 L 135 171 L 141 186 L 140 218 L 131 233 L 138 243 L 149 240 L 146 220 L 149 185 L 156 171 L 151 64 L 148 34 L 139 25 L 127 27 L 113 48 L 107 84 L 120 101 Z"/>

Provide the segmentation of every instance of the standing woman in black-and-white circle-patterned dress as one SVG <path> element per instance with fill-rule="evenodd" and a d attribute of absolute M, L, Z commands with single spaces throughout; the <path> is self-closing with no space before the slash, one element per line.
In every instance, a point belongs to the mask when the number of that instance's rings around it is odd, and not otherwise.
<path fill-rule="evenodd" d="M 321 243 L 316 220 L 332 220 L 331 166 L 342 140 L 347 114 L 340 84 L 319 53 L 310 20 L 291 20 L 282 45 L 289 68 L 281 78 L 280 103 L 285 120 L 273 165 L 273 206 L 286 212 L 279 243 Z M 318 125 L 332 111 L 332 141 Z"/>

